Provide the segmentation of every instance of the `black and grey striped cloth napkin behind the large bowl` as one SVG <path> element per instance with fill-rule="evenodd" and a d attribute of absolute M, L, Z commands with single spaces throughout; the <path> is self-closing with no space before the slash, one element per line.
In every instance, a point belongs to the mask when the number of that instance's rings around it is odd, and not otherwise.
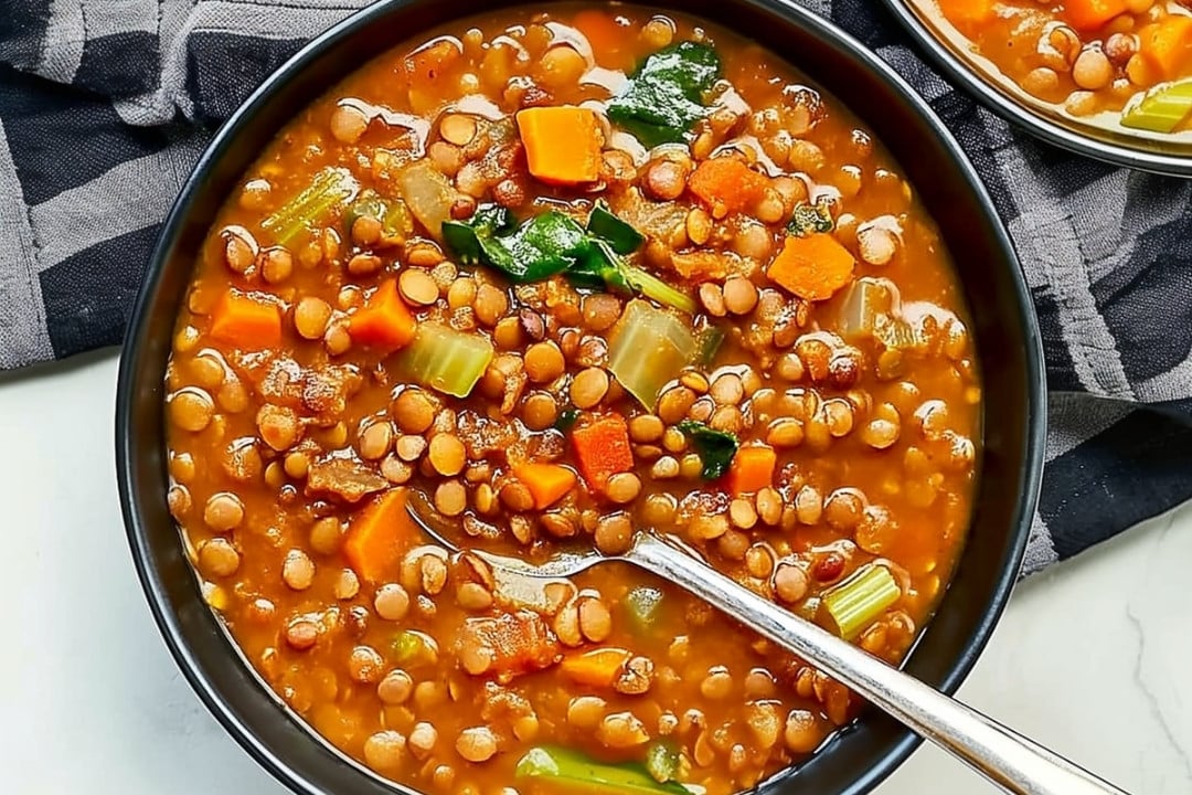
<path fill-rule="evenodd" d="M 931 103 L 1010 229 L 1050 389 L 1025 573 L 1192 497 L 1192 182 L 1007 126 L 875 0 L 799 0 Z M 0 368 L 120 342 L 161 222 L 218 123 L 365 0 L 7 0 Z M 396 41 L 396 39 L 395 39 Z"/>

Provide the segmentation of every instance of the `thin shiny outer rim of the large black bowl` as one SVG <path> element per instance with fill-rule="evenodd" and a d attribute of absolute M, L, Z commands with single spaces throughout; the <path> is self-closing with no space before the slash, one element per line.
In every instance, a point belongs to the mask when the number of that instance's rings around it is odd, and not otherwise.
<path fill-rule="evenodd" d="M 399 8 L 428 5 L 433 1 L 379 0 L 349 14 L 303 45 L 255 88 L 223 123 L 200 155 L 162 224 L 157 243 L 147 266 L 141 290 L 130 315 L 119 362 L 114 423 L 117 487 L 134 566 L 149 603 L 154 622 L 157 625 L 159 632 L 184 677 L 224 731 L 275 780 L 296 793 L 310 795 L 319 795 L 323 790 L 299 771 L 294 770 L 293 765 L 271 751 L 255 735 L 254 731 L 235 714 L 229 706 L 226 696 L 216 685 L 212 677 L 201 669 L 201 664 L 190 648 L 190 641 L 179 616 L 174 614 L 166 596 L 166 586 L 161 572 L 150 566 L 149 561 L 153 558 L 153 553 L 148 520 L 143 515 L 144 508 L 139 502 L 132 474 L 136 460 L 139 458 L 136 440 L 130 433 L 130 429 L 136 424 L 134 417 L 136 400 L 134 386 L 138 375 L 138 366 L 151 344 L 148 333 L 148 321 L 150 317 L 148 310 L 154 296 L 160 291 L 161 282 L 168 269 L 166 266 L 169 251 L 185 226 L 186 218 L 192 210 L 197 195 L 204 190 L 203 184 L 207 172 L 228 153 L 241 130 L 257 113 L 259 108 L 279 94 L 284 85 L 294 77 L 294 75 L 306 70 L 325 50 L 337 46 L 343 39 L 356 35 L 362 27 L 375 24 L 377 20 L 384 19 L 387 14 L 397 13 Z M 876 73 L 876 76 L 894 92 L 898 99 L 906 103 L 913 114 L 918 116 L 939 137 L 942 151 L 951 156 L 957 172 L 957 179 L 970 192 L 975 204 L 980 206 L 982 213 L 986 216 L 991 237 L 997 248 L 1000 249 L 999 254 L 1005 260 L 1008 269 L 1007 278 L 1012 287 L 1013 300 L 1019 310 L 1020 318 L 1018 319 L 1024 325 L 1022 334 L 1026 348 L 1024 352 L 1026 372 L 1023 373 L 1025 384 L 1025 420 L 1022 429 L 1024 460 L 1020 461 L 1022 471 L 1018 479 L 1022 498 L 1014 507 L 1012 520 L 1006 528 L 1005 554 L 997 561 L 999 573 L 988 592 L 988 602 L 981 608 L 979 613 L 980 617 L 974 622 L 968 642 L 951 659 L 946 666 L 946 672 L 938 683 L 938 689 L 942 692 L 952 694 L 964 681 L 964 677 L 968 676 L 1005 610 L 1010 594 L 1022 569 L 1031 521 L 1038 502 L 1047 427 L 1047 404 L 1043 386 L 1045 384 L 1045 373 L 1042 335 L 1025 274 L 1005 224 L 1001 222 L 988 191 L 979 179 L 976 169 L 944 123 L 906 80 L 876 54 L 839 29 L 831 20 L 796 5 L 794 0 L 734 1 L 751 5 L 762 12 L 784 17 L 790 24 L 803 27 L 812 36 L 834 42 L 842 50 L 846 50 L 849 56 L 857 61 L 861 68 Z M 502 2 L 502 7 L 517 5 L 524 5 L 524 0 Z M 650 4 L 645 2 L 644 5 L 648 6 Z M 679 7 L 682 8 L 682 6 Z M 690 13 L 697 14 L 699 12 L 693 11 Z M 395 45 L 406 38 L 409 38 L 408 33 L 403 35 L 401 39 L 395 38 Z M 794 61 L 794 58 L 786 55 L 781 57 Z M 797 64 L 795 66 L 797 67 Z M 292 119 L 292 116 L 287 117 L 286 122 L 290 119 Z M 964 553 L 962 553 L 961 560 L 963 560 L 963 557 Z M 234 645 L 234 648 L 238 650 L 238 646 Z M 908 657 L 912 656 L 908 654 Z M 244 664 L 243 659 L 236 660 L 236 664 Z M 253 672 L 255 673 L 255 670 Z M 291 719 L 286 716 L 285 720 Z M 322 739 L 309 725 L 303 726 L 303 728 L 311 735 L 312 741 Z M 880 762 L 868 770 L 857 774 L 852 782 L 845 789 L 840 790 L 839 795 L 863 795 L 864 793 L 869 793 L 901 765 L 921 741 L 923 738 L 902 727 L 901 734 L 889 743 L 887 750 L 881 754 Z M 404 784 L 389 781 L 385 783 L 395 793 L 417 791 Z"/>

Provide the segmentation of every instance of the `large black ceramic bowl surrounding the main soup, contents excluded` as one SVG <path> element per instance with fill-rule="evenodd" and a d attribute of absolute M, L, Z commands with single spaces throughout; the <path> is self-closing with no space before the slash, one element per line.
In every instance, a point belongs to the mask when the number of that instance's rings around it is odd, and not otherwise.
<path fill-rule="evenodd" d="M 508 0 L 393 0 L 302 50 L 223 128 L 182 188 L 145 274 L 120 361 L 116 458 L 129 542 L 154 617 L 207 708 L 265 768 L 303 794 L 410 790 L 381 782 L 305 727 L 257 678 L 204 603 L 166 507 L 164 371 L 194 253 L 237 178 L 292 116 L 366 58 L 464 14 Z M 1043 453 L 1043 374 L 1026 286 L 993 205 L 940 122 L 889 67 L 784 0 L 664 0 L 789 58 L 884 142 L 955 251 L 987 385 L 974 523 L 951 588 L 906 670 L 952 691 L 1010 595 L 1026 544 Z M 869 791 L 918 740 L 874 710 L 766 793 Z"/>

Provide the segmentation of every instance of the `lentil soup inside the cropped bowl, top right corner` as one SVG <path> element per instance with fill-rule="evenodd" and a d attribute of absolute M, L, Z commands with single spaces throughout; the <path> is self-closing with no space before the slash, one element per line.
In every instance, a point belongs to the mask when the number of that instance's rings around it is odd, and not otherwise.
<path fill-rule="evenodd" d="M 979 69 L 1068 119 L 1192 142 L 1188 0 L 908 0 Z"/>

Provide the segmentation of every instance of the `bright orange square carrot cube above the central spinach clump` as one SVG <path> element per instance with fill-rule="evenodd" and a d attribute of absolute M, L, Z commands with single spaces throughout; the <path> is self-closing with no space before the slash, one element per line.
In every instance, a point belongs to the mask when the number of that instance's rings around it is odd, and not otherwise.
<path fill-rule="evenodd" d="M 583 185 L 600 179 L 603 133 L 596 113 L 559 105 L 517 113 L 529 173 L 550 185 Z"/>

